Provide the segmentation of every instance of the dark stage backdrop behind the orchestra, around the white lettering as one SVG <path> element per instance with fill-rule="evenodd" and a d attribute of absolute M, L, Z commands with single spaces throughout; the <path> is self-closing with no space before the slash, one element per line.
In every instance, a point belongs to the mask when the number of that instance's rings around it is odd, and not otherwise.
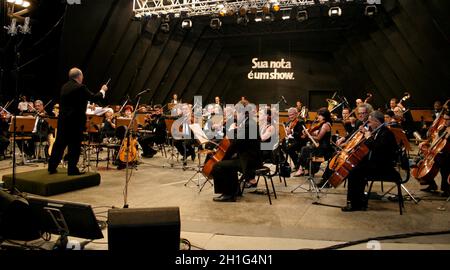
<path fill-rule="evenodd" d="M 93 90 L 112 78 L 109 103 L 149 88 L 146 103 L 165 103 L 173 93 L 186 101 L 202 95 L 204 103 L 216 95 L 227 103 L 242 95 L 275 103 L 283 95 L 289 103 L 300 98 L 317 108 L 337 91 L 352 103 L 371 92 L 375 107 L 384 107 L 408 91 L 409 106 L 431 107 L 450 96 L 448 10 L 445 0 L 383 1 L 379 14 L 367 18 L 349 3 L 337 19 L 314 7 L 305 22 L 240 26 L 226 18 L 220 30 L 212 30 L 209 18 L 196 18 L 191 30 L 172 20 L 164 33 L 160 19 L 134 20 L 130 0 L 86 0 L 67 6 L 59 68 L 30 71 L 46 74 L 46 86 L 33 86 L 47 96 L 57 96 L 72 66 L 84 70 Z M 248 80 L 253 57 L 290 60 L 295 80 Z"/>

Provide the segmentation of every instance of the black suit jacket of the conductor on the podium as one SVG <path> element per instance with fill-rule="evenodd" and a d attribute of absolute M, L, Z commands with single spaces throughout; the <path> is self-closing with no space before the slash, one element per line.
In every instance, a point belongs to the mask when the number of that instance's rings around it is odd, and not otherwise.
<path fill-rule="evenodd" d="M 58 126 L 70 125 L 73 128 L 84 130 L 87 102 L 98 102 L 102 98 L 101 92 L 94 94 L 86 85 L 69 80 L 61 88 Z"/>

